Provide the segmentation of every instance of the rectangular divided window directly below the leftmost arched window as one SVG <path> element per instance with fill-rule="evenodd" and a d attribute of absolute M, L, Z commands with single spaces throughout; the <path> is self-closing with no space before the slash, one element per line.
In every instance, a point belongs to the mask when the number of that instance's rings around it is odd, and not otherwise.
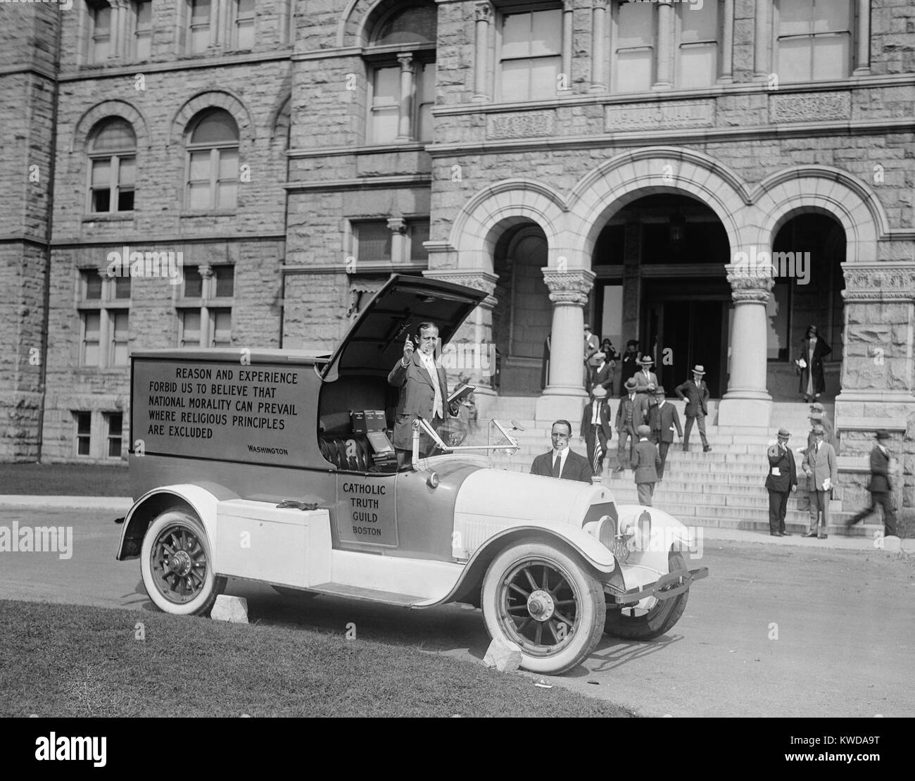
<path fill-rule="evenodd" d="M 130 277 L 80 272 L 80 365 L 126 366 L 130 355 Z"/>

